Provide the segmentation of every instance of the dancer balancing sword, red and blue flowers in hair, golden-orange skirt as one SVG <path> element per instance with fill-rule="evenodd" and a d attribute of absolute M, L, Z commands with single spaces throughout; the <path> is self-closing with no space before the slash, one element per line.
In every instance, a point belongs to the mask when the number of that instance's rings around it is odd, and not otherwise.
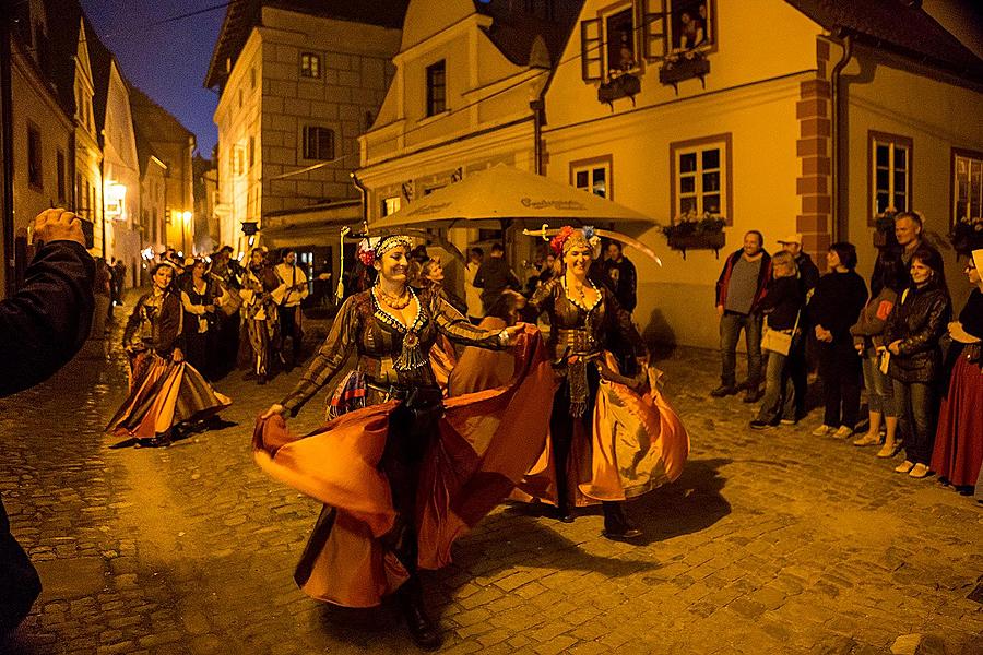
<path fill-rule="evenodd" d="M 625 500 L 676 479 L 689 438 L 650 384 L 648 354 L 631 317 L 609 289 L 588 277 L 599 242 L 593 228 L 564 227 L 550 241 L 560 269 L 529 300 L 549 315 L 550 354 L 562 379 L 553 400 L 548 448 L 520 488 L 555 502 L 564 522 L 573 521 L 575 505 L 600 501 L 604 536 L 621 540 L 641 535 L 625 513 Z M 614 333 L 636 346 L 639 378 L 620 376 L 605 350 Z"/>

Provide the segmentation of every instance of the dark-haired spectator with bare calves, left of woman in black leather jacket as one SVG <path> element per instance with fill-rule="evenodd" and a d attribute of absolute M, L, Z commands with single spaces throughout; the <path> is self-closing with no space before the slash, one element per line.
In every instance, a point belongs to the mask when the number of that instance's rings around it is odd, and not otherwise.
<path fill-rule="evenodd" d="M 884 448 L 878 457 L 893 457 L 898 454 L 898 408 L 895 405 L 895 390 L 890 378 L 880 370 L 886 350 L 884 329 L 887 318 L 898 301 L 898 294 L 908 279 L 908 272 L 900 255 L 893 250 L 881 250 L 874 265 L 871 278 L 871 301 L 861 312 L 860 319 L 850 329 L 853 346 L 862 358 L 864 386 L 867 388 L 867 409 L 869 426 L 867 433 L 854 440 L 853 445 L 876 445 L 880 443 L 880 424 L 885 426 Z"/>

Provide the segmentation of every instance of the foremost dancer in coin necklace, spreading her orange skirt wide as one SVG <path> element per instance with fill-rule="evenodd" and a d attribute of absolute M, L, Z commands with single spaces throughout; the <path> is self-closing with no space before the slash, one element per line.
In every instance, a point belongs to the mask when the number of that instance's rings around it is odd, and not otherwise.
<path fill-rule="evenodd" d="M 408 237 L 364 241 L 377 284 L 350 297 L 300 381 L 263 414 L 257 463 L 325 504 L 295 573 L 308 595 L 348 607 L 395 593 L 414 641 L 437 647 L 417 569 L 450 561 L 450 545 L 504 499 L 543 448 L 552 371 L 538 333 L 472 325 L 440 295 L 407 285 Z M 501 389 L 443 402 L 427 354 L 437 335 L 505 348 L 517 374 Z M 297 440 L 296 413 L 351 353 L 339 418 Z M 345 413 L 345 410 L 348 410 Z"/>

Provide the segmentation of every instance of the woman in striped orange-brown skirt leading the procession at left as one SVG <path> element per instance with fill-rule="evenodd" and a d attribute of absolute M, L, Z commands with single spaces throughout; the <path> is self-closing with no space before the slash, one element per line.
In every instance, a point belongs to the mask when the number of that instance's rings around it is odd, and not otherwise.
<path fill-rule="evenodd" d="M 178 424 L 214 416 L 232 401 L 209 386 L 181 349 L 182 309 L 171 287 L 174 269 L 157 264 L 154 288 L 137 301 L 123 331 L 130 358 L 130 395 L 106 431 L 142 445 L 167 445 Z"/>

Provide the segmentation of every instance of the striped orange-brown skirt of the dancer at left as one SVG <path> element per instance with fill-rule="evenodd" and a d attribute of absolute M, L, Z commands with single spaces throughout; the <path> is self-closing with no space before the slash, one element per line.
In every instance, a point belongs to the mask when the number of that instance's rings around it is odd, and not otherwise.
<path fill-rule="evenodd" d="M 208 418 L 232 405 L 187 361 L 175 364 L 151 353 L 131 368 L 130 395 L 106 426 L 116 437 L 149 439 L 174 426 Z"/>

